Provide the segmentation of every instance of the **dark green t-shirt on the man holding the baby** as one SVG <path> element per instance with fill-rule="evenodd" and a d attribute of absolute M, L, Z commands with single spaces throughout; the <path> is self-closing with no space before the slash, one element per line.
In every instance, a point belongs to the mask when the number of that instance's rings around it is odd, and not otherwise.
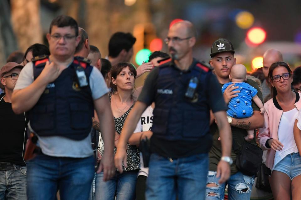
<path fill-rule="evenodd" d="M 255 81 L 251 80 L 251 79 L 247 79 L 246 83 L 248 83 L 249 85 L 256 88 L 256 90 L 258 91 L 257 96 L 260 98 L 260 100 L 263 103 L 262 93 L 261 93 L 261 90 L 260 90 L 258 84 Z M 220 84 L 220 87 L 222 87 L 223 85 L 224 84 Z M 260 111 L 259 107 L 254 103 L 253 100 L 252 100 L 252 108 L 253 108 L 253 111 L 255 111 L 255 110 Z M 244 119 L 242 118 L 239 121 L 243 122 Z M 246 126 L 247 126 L 247 124 L 246 124 Z M 239 151 L 240 146 L 243 145 L 246 142 L 245 141 L 245 136 L 247 135 L 247 131 L 246 131 L 246 129 L 237 128 L 235 126 L 231 126 L 231 131 L 232 131 L 232 138 L 233 138 L 231 158 L 233 159 L 233 164 L 231 165 L 230 168 L 231 168 L 231 175 L 233 175 L 233 174 L 238 172 L 238 169 L 235 165 L 236 155 Z M 221 143 L 218 140 L 219 130 L 218 130 L 218 127 L 217 127 L 215 122 L 213 122 L 213 124 L 211 124 L 211 126 L 210 126 L 210 133 L 213 135 L 213 138 L 212 138 L 213 139 L 213 144 L 212 144 L 212 147 L 209 151 L 209 170 L 215 172 L 217 164 L 219 163 L 221 155 L 222 155 Z M 254 139 L 251 141 L 254 144 L 256 144 L 255 138 L 256 138 L 256 135 L 255 135 L 255 131 L 254 131 Z"/>

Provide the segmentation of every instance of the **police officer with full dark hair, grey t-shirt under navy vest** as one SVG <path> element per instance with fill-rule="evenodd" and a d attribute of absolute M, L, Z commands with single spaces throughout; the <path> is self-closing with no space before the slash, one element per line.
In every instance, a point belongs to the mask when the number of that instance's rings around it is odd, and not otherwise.
<path fill-rule="evenodd" d="M 57 189 L 61 199 L 88 199 L 95 172 L 90 135 L 94 108 L 106 146 L 100 167 L 105 180 L 114 175 L 108 88 L 98 69 L 74 57 L 80 39 L 73 18 L 53 19 L 47 34 L 50 56 L 26 64 L 13 91 L 13 110 L 28 112 L 41 149 L 27 161 L 29 199 L 54 199 Z"/>

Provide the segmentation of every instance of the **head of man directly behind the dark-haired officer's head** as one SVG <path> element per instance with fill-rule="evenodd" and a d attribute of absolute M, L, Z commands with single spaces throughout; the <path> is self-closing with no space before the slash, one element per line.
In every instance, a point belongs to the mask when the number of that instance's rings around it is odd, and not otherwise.
<path fill-rule="evenodd" d="M 90 53 L 89 37 L 83 28 L 78 28 L 78 34 L 81 36 L 81 41 L 78 43 L 74 56 L 87 58 Z"/>

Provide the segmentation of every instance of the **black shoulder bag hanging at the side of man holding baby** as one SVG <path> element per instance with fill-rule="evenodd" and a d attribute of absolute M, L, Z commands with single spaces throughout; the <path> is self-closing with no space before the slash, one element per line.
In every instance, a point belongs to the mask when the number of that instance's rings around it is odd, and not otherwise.
<path fill-rule="evenodd" d="M 250 142 L 244 143 L 236 158 L 236 167 L 245 175 L 257 175 L 262 162 L 262 149 Z"/>

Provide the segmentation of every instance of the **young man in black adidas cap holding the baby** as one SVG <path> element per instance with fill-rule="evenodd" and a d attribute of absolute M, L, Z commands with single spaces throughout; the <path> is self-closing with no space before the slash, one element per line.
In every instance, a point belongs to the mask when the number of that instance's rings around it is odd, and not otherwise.
<path fill-rule="evenodd" d="M 210 65 L 214 68 L 214 73 L 222 87 L 225 83 L 230 82 L 229 74 L 232 66 L 236 64 L 236 59 L 234 58 L 234 48 L 231 42 L 224 38 L 219 38 L 216 40 L 211 47 L 211 60 Z M 255 87 L 258 90 L 258 97 L 262 100 L 262 93 L 259 89 L 258 84 L 255 81 L 248 79 L 246 83 Z M 224 92 L 224 100 L 226 104 L 229 101 L 238 96 L 236 93 L 238 91 L 233 91 L 238 87 L 232 87 L 234 84 L 229 85 Z M 221 141 L 219 139 L 219 130 L 215 122 L 210 126 L 210 132 L 213 135 L 213 145 L 209 151 L 209 172 L 206 187 L 206 200 L 224 199 L 224 191 L 226 185 L 228 185 L 228 198 L 229 199 L 240 199 L 249 200 L 251 196 L 251 188 L 254 183 L 253 177 L 246 176 L 238 171 L 236 163 L 236 155 L 242 144 L 244 144 L 245 136 L 247 134 L 246 130 L 261 128 L 264 122 L 264 116 L 260 114 L 260 109 L 253 102 L 252 108 L 254 114 L 249 118 L 235 119 L 231 117 L 228 118 L 228 122 L 231 125 L 233 145 L 231 151 L 231 157 L 233 163 L 231 164 L 230 178 L 227 182 L 219 184 L 219 178 L 216 177 L 217 163 L 221 157 Z M 255 136 L 254 136 L 255 139 Z M 252 142 L 255 142 L 253 139 Z"/>

